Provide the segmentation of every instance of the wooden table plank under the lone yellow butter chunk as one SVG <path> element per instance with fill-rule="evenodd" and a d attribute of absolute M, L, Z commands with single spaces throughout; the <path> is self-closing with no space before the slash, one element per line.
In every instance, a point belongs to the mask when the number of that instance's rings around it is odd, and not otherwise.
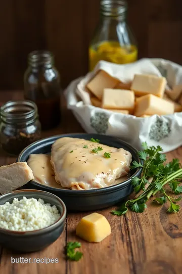
<path fill-rule="evenodd" d="M 87 243 L 75 236 L 75 229 L 81 218 L 90 212 L 69 214 L 67 221 L 67 241 L 79 241 L 83 258 L 77 263 L 68 262 L 68 274 L 105 274 L 134 273 L 130 239 L 125 217 L 111 215 L 112 208 L 98 211 L 109 221 L 112 229 L 110 236 L 101 243 Z"/>

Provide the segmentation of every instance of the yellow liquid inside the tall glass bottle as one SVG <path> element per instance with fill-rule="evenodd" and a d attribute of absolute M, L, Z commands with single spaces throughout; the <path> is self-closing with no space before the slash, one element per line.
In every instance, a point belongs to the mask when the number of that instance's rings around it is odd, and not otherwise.
<path fill-rule="evenodd" d="M 89 48 L 89 70 L 93 71 L 100 60 L 126 64 L 136 61 L 137 58 L 138 49 L 134 45 L 121 47 L 119 42 L 103 42 L 97 47 Z"/>

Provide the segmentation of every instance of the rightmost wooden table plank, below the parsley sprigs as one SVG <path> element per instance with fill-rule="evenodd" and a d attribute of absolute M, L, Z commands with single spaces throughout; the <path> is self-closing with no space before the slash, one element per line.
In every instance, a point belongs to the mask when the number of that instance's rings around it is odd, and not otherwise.
<path fill-rule="evenodd" d="M 182 161 L 182 148 L 167 154 L 168 160 Z M 182 208 L 182 201 L 178 202 Z M 182 263 L 182 211 L 167 214 L 167 205 L 152 201 L 142 214 L 128 212 L 126 222 L 136 274 L 180 274 Z"/>

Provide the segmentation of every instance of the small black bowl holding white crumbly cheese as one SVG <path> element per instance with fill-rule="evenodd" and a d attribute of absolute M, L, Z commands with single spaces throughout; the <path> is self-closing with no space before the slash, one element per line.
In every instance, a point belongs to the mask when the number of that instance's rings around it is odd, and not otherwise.
<path fill-rule="evenodd" d="M 34 252 L 41 250 L 53 242 L 61 235 L 66 219 L 66 207 L 64 202 L 52 193 L 40 190 L 16 190 L 0 196 L 0 204 L 12 202 L 14 198 L 43 199 L 45 203 L 56 205 L 61 217 L 58 221 L 48 227 L 33 231 L 13 231 L 0 228 L 0 245 L 19 252 Z"/>

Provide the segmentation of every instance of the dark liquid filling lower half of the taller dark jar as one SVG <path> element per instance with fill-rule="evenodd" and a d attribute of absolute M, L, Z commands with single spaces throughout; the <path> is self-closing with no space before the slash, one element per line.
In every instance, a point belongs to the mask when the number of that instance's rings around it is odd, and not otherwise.
<path fill-rule="evenodd" d="M 26 99 L 30 100 L 30 98 Z M 39 121 L 42 130 L 51 129 L 59 125 L 61 121 L 60 96 L 37 99 L 35 100 L 35 104 L 38 108 Z"/>

